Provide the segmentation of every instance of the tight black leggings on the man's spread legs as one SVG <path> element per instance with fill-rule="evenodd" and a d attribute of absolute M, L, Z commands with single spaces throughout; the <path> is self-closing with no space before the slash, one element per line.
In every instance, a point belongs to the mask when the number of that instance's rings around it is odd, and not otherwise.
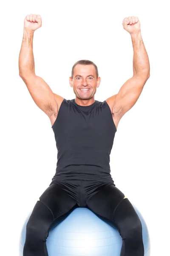
<path fill-rule="evenodd" d="M 130 201 L 112 183 L 68 180 L 51 184 L 34 206 L 26 226 L 23 256 L 48 256 L 49 231 L 77 207 L 86 207 L 122 237 L 120 256 L 144 256 L 142 224 Z"/>

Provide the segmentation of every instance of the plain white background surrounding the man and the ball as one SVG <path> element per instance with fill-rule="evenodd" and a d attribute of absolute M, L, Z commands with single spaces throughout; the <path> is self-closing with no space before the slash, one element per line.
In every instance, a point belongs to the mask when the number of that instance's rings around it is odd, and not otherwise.
<path fill-rule="evenodd" d="M 150 59 L 150 79 L 119 122 L 111 152 L 116 186 L 142 213 L 151 256 L 169 254 L 168 1 L 4 1 L 0 9 L 0 241 L 3 256 L 19 255 L 23 223 L 55 174 L 57 148 L 48 116 L 19 76 L 23 21 L 40 14 L 34 33 L 35 72 L 65 99 L 74 99 L 71 67 L 94 61 L 102 81 L 95 99 L 116 94 L 133 76 L 133 48 L 122 20 L 137 16 Z"/>

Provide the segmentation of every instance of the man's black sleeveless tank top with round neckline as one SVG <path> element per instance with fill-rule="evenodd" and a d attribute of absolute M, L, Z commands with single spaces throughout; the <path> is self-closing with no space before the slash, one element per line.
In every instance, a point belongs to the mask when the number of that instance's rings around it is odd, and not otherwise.
<path fill-rule="evenodd" d="M 51 184 L 57 180 L 114 183 L 109 163 L 116 126 L 106 101 L 80 106 L 75 99 L 63 99 L 52 129 L 58 152 Z"/>

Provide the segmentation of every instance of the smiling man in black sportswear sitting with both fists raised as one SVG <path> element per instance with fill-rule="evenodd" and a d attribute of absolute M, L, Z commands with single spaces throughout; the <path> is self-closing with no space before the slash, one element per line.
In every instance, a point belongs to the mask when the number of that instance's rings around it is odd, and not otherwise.
<path fill-rule="evenodd" d="M 40 15 L 27 15 L 24 20 L 19 70 L 34 102 L 51 120 L 57 169 L 28 220 L 23 256 L 48 256 L 49 230 L 77 207 L 87 207 L 116 225 L 122 236 L 121 256 L 144 256 L 141 222 L 128 198 L 116 188 L 109 166 L 118 123 L 136 103 L 150 76 L 139 19 L 126 17 L 122 23 L 133 43 L 133 77 L 104 102 L 94 99 L 100 77 L 92 61 L 74 64 L 70 86 L 76 99 L 72 100 L 53 93 L 35 75 L 33 35 L 41 24 Z"/>

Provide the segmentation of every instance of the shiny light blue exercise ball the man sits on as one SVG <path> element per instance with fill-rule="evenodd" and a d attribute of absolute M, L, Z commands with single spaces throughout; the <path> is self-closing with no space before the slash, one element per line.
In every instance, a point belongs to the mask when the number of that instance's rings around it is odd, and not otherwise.
<path fill-rule="evenodd" d="M 136 207 L 134 209 L 142 222 L 144 256 L 150 256 L 147 225 Z M 29 216 L 21 232 L 20 256 L 23 256 Z M 48 256 L 120 256 L 122 238 L 116 227 L 103 221 L 88 208 L 79 207 L 49 232 L 46 244 Z"/>

